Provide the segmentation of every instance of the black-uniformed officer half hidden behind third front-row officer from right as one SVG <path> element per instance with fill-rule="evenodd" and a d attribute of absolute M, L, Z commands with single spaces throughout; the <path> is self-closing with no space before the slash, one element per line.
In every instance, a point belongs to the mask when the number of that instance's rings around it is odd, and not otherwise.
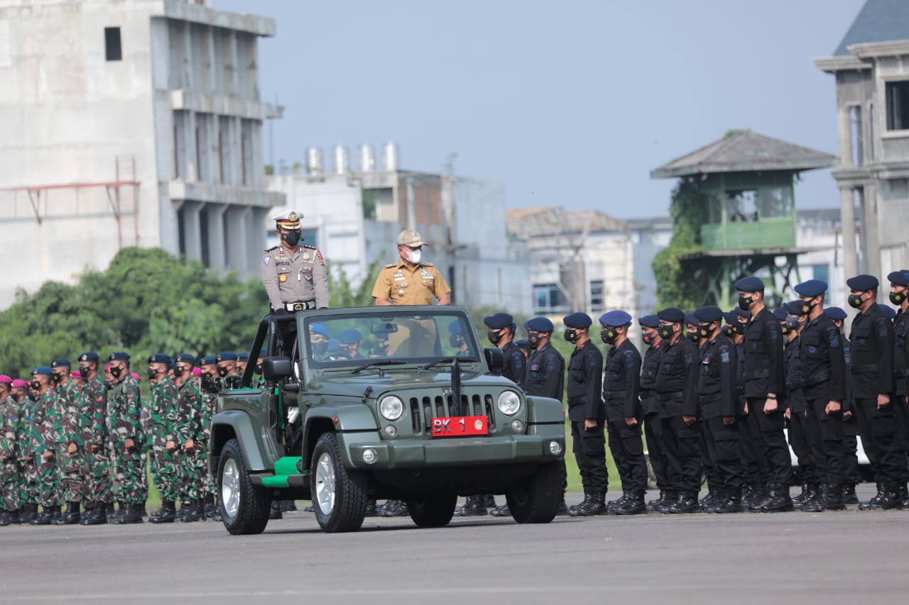
<path fill-rule="evenodd" d="M 802 493 L 793 498 L 793 506 L 801 508 L 805 502 L 813 501 L 821 490 L 821 481 L 811 456 L 812 448 L 808 445 L 808 419 L 805 414 L 808 400 L 805 399 L 802 389 L 804 381 L 801 334 L 807 320 L 808 307 L 801 301 L 791 301 L 780 308 L 786 312 L 784 329 L 787 342 L 783 351 L 786 372 L 785 414 L 786 420 L 789 421 L 789 445 L 798 458 L 799 474 L 802 479 Z"/>

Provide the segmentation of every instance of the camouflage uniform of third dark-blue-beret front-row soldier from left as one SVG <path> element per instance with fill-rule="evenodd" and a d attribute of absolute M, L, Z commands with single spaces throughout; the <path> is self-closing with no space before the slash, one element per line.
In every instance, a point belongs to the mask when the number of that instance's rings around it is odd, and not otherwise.
<path fill-rule="evenodd" d="M 83 495 L 86 502 L 106 502 L 111 497 L 110 435 L 107 432 L 107 389 L 101 376 L 85 382 L 79 400 L 79 409 L 88 419 L 85 424 L 85 481 Z M 92 445 L 98 446 L 92 451 Z"/>

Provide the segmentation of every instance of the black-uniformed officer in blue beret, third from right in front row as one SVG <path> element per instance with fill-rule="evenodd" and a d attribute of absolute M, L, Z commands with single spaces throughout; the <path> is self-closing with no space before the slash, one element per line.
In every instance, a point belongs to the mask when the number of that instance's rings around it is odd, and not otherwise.
<path fill-rule="evenodd" d="M 845 483 L 843 410 L 848 409 L 845 357 L 840 331 L 824 315 L 827 283 L 808 280 L 795 286 L 801 311 L 807 312 L 802 329 L 802 389 L 807 400 L 808 445 L 823 491 L 802 505 L 803 511 L 842 511 Z M 799 309 L 795 309 L 798 311 Z"/>

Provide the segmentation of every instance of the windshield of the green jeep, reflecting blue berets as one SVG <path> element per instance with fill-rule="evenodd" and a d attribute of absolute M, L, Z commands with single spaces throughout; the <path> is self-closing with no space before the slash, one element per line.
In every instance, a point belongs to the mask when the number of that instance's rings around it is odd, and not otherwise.
<path fill-rule="evenodd" d="M 425 366 L 461 357 L 468 363 L 480 359 L 470 317 L 441 306 L 430 312 L 387 307 L 381 314 L 310 316 L 303 328 L 301 355 L 315 368 L 356 370 L 373 362 L 381 368 L 403 363 Z"/>

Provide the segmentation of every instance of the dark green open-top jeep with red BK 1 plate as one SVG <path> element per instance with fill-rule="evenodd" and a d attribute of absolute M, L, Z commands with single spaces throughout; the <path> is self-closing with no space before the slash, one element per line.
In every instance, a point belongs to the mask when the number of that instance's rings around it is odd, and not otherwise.
<path fill-rule="evenodd" d="M 341 345 L 335 338 L 340 336 Z M 368 501 L 407 503 L 419 527 L 458 495 L 504 494 L 515 521 L 562 500 L 564 415 L 494 374 L 466 309 L 377 306 L 266 316 L 212 419 L 209 469 L 233 534 L 265 529 L 273 499 L 312 500 L 325 531 L 355 531 Z M 233 379 L 233 380 L 231 380 Z"/>

